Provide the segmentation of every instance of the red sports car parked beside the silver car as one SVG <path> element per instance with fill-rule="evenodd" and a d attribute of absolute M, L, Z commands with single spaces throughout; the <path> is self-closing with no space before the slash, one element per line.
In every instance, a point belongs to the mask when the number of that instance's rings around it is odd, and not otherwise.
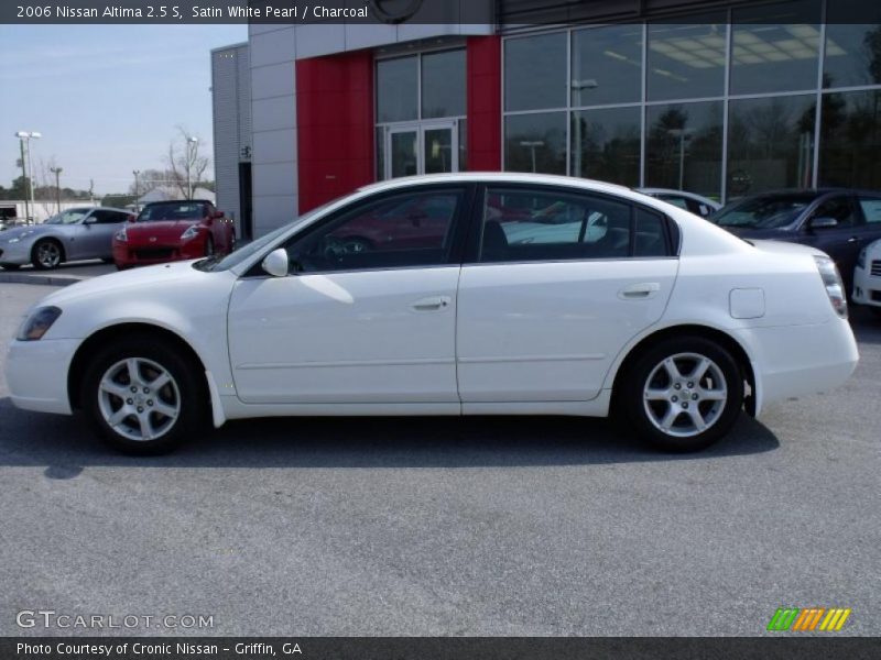
<path fill-rule="evenodd" d="M 113 261 L 121 271 L 229 254 L 235 248 L 232 221 L 224 218 L 224 212 L 210 201 L 155 201 L 113 235 Z"/>

